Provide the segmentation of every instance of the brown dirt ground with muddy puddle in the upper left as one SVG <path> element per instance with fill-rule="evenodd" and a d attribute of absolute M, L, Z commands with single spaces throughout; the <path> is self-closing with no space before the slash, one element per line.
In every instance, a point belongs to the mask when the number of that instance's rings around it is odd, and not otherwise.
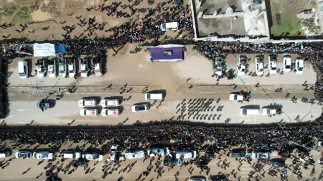
<path fill-rule="evenodd" d="M 121 2 L 121 5 L 132 5 L 132 1 L 128 2 L 127 0 L 121 0 L 118 1 Z M 156 0 L 153 6 L 149 6 L 146 1 L 142 1 L 139 5 L 134 6 L 133 8 L 154 8 L 157 6 L 158 3 L 163 3 L 165 1 L 163 0 Z M 184 1 L 184 5 L 187 3 L 187 1 Z M 81 36 L 87 37 L 88 32 L 84 32 L 84 28 L 77 25 L 79 21 L 76 19 L 76 17 L 82 16 L 82 19 L 88 20 L 88 18 L 95 17 L 95 20 L 97 23 L 106 23 L 104 26 L 104 30 L 119 26 L 122 23 L 125 23 L 129 21 L 128 18 L 116 18 L 116 16 L 107 16 L 106 12 L 104 11 L 101 13 L 98 10 L 98 5 L 112 5 L 111 1 L 104 2 L 103 0 L 74 0 L 74 1 L 65 1 L 65 0 L 40 0 L 40 1 L 32 1 L 32 0 L 0 0 L 0 8 L 9 7 L 11 5 L 20 5 L 20 7 L 30 7 L 34 6 L 35 8 L 32 9 L 32 13 L 30 15 L 29 19 L 19 19 L 19 22 L 16 22 L 13 27 L 9 27 L 7 29 L 2 29 L 1 35 L 9 36 L 10 38 L 24 38 L 25 42 L 29 41 L 48 41 L 48 40 L 57 40 L 57 39 L 63 39 L 62 34 L 65 34 L 66 31 L 64 31 L 61 27 L 62 26 L 72 26 L 75 25 L 76 29 L 73 30 L 73 32 L 70 34 L 71 37 Z M 120 6 L 121 6 L 120 5 Z M 122 12 L 128 12 L 130 13 L 129 8 L 122 9 L 121 7 L 118 7 L 117 11 Z M 166 7 L 174 7 L 174 3 L 167 4 Z M 93 7 L 90 12 L 86 12 L 86 8 Z M 17 10 L 15 13 L 17 13 L 19 10 Z M 69 16 L 68 14 L 72 14 Z M 136 17 L 138 15 L 138 17 Z M 14 16 L 14 15 L 13 15 Z M 1 24 L 4 23 L 11 23 L 13 16 L 6 17 L 3 16 L 2 20 L 0 21 Z M 134 20 L 137 19 L 138 22 L 140 18 L 143 18 L 144 14 L 142 13 L 135 13 L 135 15 L 131 18 Z M 28 28 L 25 29 L 25 31 L 18 33 L 15 30 L 21 30 L 20 24 L 25 24 L 26 22 L 34 22 L 33 24 L 29 25 Z M 137 23 L 138 23 L 137 22 Z M 42 28 L 49 27 L 48 30 L 44 31 Z M 28 33 L 28 31 L 33 31 L 33 33 Z M 110 35 L 110 32 L 106 33 L 104 30 L 94 31 L 93 35 L 90 38 L 93 38 L 95 36 L 98 37 L 107 37 Z M 83 33 L 83 34 L 82 34 Z M 184 35 L 184 34 L 183 34 Z M 165 35 L 162 37 L 165 40 L 173 39 L 176 34 L 171 32 L 165 33 Z M 3 37 L 0 37 L 0 40 L 2 40 Z M 133 49 L 131 49 L 133 50 Z"/>

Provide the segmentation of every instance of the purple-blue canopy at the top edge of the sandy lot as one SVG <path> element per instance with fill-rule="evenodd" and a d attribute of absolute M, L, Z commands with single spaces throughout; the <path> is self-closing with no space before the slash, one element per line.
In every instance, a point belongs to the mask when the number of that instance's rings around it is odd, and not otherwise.
<path fill-rule="evenodd" d="M 179 62 L 184 59 L 183 47 L 149 48 L 148 51 L 150 52 L 151 62 Z"/>

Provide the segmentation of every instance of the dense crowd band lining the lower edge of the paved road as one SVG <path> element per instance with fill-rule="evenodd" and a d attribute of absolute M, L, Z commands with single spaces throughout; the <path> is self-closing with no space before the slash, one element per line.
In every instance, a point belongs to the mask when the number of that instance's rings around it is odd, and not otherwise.
<path fill-rule="evenodd" d="M 289 126 L 270 128 L 222 128 L 207 126 L 173 125 L 154 123 L 129 128 L 107 129 L 1 129 L 0 140 L 14 140 L 18 144 L 53 144 L 85 140 L 93 145 L 114 140 L 130 147 L 172 144 L 172 150 L 200 150 L 205 141 L 214 142 L 214 152 L 233 146 L 253 147 L 264 152 L 279 151 L 287 154 L 290 141 L 304 147 L 313 147 L 312 139 L 321 140 L 321 126 Z"/>

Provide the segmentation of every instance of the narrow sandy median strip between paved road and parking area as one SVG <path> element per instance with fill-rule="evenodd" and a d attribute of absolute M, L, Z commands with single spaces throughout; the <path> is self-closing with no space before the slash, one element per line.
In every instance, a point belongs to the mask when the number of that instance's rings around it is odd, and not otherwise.
<path fill-rule="evenodd" d="M 254 93 L 274 93 L 274 92 L 314 92 L 308 85 L 250 85 L 247 86 Z M 172 87 L 172 89 L 160 90 L 170 93 L 191 94 L 191 93 L 230 93 L 230 92 L 250 92 L 243 85 L 182 85 Z M 52 87 L 43 87 L 52 88 Z M 155 86 L 76 86 L 55 87 L 55 90 L 44 90 L 44 95 L 49 93 L 60 94 L 65 91 L 66 94 L 123 94 L 123 93 L 147 93 L 150 91 L 158 91 Z M 30 90 L 28 87 L 8 87 L 8 94 L 31 94 L 35 95 L 36 90 Z"/>

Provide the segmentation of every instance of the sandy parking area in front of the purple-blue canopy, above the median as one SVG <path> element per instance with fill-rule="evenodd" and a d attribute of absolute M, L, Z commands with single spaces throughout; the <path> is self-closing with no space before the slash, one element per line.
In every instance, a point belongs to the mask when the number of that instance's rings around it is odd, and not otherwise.
<path fill-rule="evenodd" d="M 263 76 L 252 76 L 255 72 L 255 57 L 257 55 L 247 55 L 247 69 L 244 76 L 241 76 L 242 80 L 247 85 L 302 85 L 305 82 L 309 85 L 316 82 L 316 73 L 312 66 L 308 62 L 304 62 L 304 72 L 301 75 L 297 75 L 294 72 L 282 73 L 283 69 L 283 56 L 277 57 L 277 73 L 275 75 L 268 76 L 268 56 L 264 55 L 264 74 Z M 291 55 L 291 62 L 294 63 L 298 55 Z M 49 57 L 49 59 L 54 57 Z M 225 61 L 237 72 L 239 55 L 229 54 Z M 20 79 L 18 75 L 18 61 L 22 61 L 22 58 L 16 58 L 9 65 L 9 86 L 29 86 L 29 82 L 33 84 L 38 81 L 44 81 L 44 86 L 68 86 L 71 84 L 73 78 L 38 78 L 35 76 L 35 63 L 37 58 L 30 59 L 29 70 L 30 74 L 34 77 L 28 79 Z M 76 64 L 77 72 L 79 71 L 79 64 Z M 201 56 L 192 49 L 187 49 L 185 53 L 185 59 L 182 62 L 175 63 L 152 63 L 148 53 L 128 54 L 121 56 L 109 56 L 107 57 L 106 64 L 103 64 L 103 70 L 106 73 L 101 77 L 95 77 L 90 75 L 84 78 L 80 82 L 80 86 L 107 86 L 107 85 L 147 85 L 162 87 L 164 89 L 177 89 L 179 86 L 186 84 L 195 85 L 242 85 L 240 79 L 228 80 L 226 78 L 220 79 L 217 82 L 217 78 L 212 75 L 214 70 L 212 63 Z M 226 71 L 229 71 L 227 69 Z M 189 81 L 187 81 L 189 79 Z"/>

